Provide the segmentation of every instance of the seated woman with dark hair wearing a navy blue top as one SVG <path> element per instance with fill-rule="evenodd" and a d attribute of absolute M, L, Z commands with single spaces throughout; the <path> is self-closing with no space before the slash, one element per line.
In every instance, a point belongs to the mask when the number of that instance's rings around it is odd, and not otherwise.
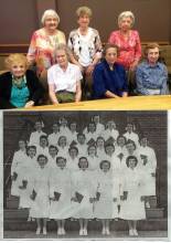
<path fill-rule="evenodd" d="M 106 44 L 104 60 L 97 64 L 93 73 L 94 98 L 117 98 L 128 95 L 126 71 L 122 65 L 116 63 L 118 47 Z"/>

